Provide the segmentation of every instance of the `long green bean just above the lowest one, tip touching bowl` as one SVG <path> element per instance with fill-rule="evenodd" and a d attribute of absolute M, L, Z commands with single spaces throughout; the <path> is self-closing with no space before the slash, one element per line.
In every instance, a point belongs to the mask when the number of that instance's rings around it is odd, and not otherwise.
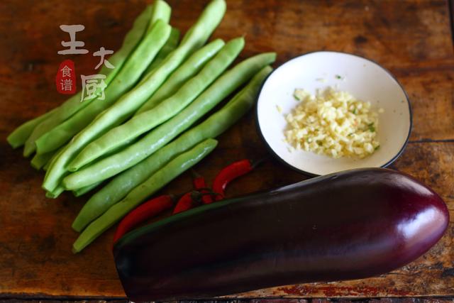
<path fill-rule="evenodd" d="M 84 206 L 72 223 L 74 231 L 82 231 L 90 222 L 104 214 L 109 207 L 120 201 L 134 187 L 144 182 L 167 162 L 179 153 L 192 148 L 197 143 L 207 138 L 215 138 L 232 126 L 255 103 L 262 83 L 272 68 L 264 67 L 250 80 L 248 85 L 228 101 L 222 109 L 216 111 L 199 125 L 186 131 L 175 141 L 157 150 L 145 160 L 121 172 L 103 188 L 99 189 Z"/>

